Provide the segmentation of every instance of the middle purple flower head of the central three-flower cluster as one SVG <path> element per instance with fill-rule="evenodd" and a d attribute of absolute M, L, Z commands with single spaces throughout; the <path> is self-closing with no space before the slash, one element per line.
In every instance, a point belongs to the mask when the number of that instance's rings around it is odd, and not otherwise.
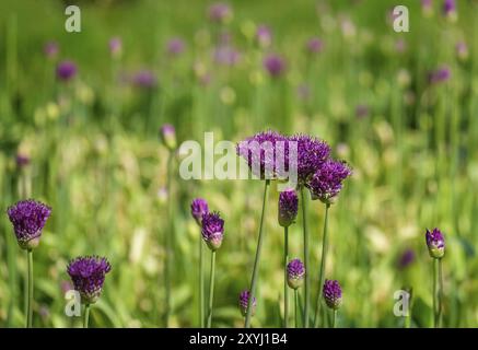
<path fill-rule="evenodd" d="M 298 143 L 298 179 L 303 186 L 320 168 L 330 154 L 329 145 L 307 135 L 294 135 L 289 138 Z"/>

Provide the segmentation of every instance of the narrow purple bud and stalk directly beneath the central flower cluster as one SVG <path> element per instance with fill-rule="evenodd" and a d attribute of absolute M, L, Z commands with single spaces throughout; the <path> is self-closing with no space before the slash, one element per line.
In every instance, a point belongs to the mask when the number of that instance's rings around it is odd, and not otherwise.
<path fill-rule="evenodd" d="M 284 249 L 283 249 L 283 308 L 284 323 L 289 325 L 289 289 L 288 289 L 288 262 L 289 262 L 289 226 L 295 221 L 298 215 L 298 195 L 295 190 L 284 190 L 279 195 L 279 224 L 283 226 Z"/>

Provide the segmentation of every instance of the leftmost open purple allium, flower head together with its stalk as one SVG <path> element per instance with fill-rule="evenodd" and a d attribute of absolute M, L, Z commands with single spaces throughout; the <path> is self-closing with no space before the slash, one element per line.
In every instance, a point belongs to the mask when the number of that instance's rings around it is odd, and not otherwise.
<path fill-rule="evenodd" d="M 42 231 L 51 214 L 51 208 L 32 199 L 21 200 L 7 210 L 13 225 L 16 241 L 22 249 L 26 250 L 27 259 L 27 293 L 25 324 L 33 325 L 33 249 L 39 244 Z"/>

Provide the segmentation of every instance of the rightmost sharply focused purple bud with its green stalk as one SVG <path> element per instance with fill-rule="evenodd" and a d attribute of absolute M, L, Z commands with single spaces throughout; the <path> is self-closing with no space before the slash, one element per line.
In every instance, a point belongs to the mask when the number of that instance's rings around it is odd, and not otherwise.
<path fill-rule="evenodd" d="M 433 258 L 433 324 L 435 328 L 442 326 L 443 303 L 443 268 L 442 258 L 445 254 L 445 240 L 439 229 L 427 230 L 425 241 L 430 257 Z"/>

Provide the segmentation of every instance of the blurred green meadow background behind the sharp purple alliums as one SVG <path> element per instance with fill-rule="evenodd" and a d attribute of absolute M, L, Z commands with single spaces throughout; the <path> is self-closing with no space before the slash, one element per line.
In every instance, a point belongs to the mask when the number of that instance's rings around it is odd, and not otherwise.
<path fill-rule="evenodd" d="M 34 327 L 81 327 L 65 293 L 84 255 L 112 266 L 90 327 L 200 326 L 195 198 L 224 220 L 211 326 L 243 327 L 265 182 L 186 180 L 177 150 L 209 131 L 240 142 L 265 130 L 323 139 L 352 170 L 327 218 L 337 327 L 433 327 L 434 228 L 442 326 L 477 327 L 478 2 L 444 2 L 400 1 L 408 33 L 383 0 L 237 0 L 215 18 L 206 0 L 77 1 L 81 33 L 65 31 L 63 1 L 0 2 L 0 327 L 25 323 L 27 259 L 7 210 L 27 198 L 51 208 L 34 250 Z M 271 182 L 253 327 L 283 325 L 278 201 Z M 304 259 L 303 202 L 290 258 Z M 307 195 L 305 217 L 313 324 L 325 206 Z M 399 290 L 409 317 L 394 314 Z M 298 302 L 303 326 L 303 287 Z"/>

